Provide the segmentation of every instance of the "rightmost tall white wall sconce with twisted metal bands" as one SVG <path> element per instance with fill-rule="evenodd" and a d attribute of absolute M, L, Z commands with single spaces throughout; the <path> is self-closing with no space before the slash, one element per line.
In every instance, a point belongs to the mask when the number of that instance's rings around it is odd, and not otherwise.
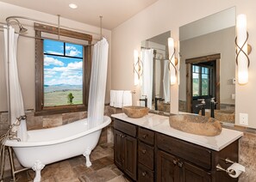
<path fill-rule="evenodd" d="M 248 82 L 248 69 L 250 65 L 249 53 L 252 51 L 251 45 L 247 44 L 249 34 L 247 33 L 247 15 L 238 15 L 236 18 L 236 64 L 238 83 L 243 85 Z"/>

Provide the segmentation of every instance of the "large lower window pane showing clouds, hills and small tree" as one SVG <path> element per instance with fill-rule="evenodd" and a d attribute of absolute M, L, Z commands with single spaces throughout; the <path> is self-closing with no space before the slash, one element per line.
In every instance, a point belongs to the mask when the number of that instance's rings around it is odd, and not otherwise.
<path fill-rule="evenodd" d="M 83 104 L 83 58 L 44 56 L 44 106 Z"/>

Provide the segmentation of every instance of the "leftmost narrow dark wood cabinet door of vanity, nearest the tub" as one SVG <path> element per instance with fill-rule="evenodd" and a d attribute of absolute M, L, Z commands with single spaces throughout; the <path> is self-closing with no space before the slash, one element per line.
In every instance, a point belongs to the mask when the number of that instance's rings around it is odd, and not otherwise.
<path fill-rule="evenodd" d="M 124 143 L 122 132 L 114 130 L 114 160 L 117 167 L 122 167 L 124 164 Z"/>

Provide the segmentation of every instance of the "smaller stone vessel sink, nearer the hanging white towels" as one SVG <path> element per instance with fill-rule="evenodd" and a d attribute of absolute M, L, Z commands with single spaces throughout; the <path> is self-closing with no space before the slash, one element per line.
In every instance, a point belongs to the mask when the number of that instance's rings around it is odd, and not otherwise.
<path fill-rule="evenodd" d="M 122 111 L 129 118 L 142 118 L 148 114 L 149 108 L 145 106 L 123 106 Z"/>

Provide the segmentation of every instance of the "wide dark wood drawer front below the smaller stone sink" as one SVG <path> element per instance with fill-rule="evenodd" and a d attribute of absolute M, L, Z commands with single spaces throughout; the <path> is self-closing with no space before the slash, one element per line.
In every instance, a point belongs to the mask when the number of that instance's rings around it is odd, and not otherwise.
<path fill-rule="evenodd" d="M 136 126 L 134 124 L 128 124 L 127 122 L 124 122 L 119 119 L 114 120 L 114 128 L 116 130 L 120 130 L 126 134 L 128 134 L 131 137 L 136 137 L 137 130 Z"/>

